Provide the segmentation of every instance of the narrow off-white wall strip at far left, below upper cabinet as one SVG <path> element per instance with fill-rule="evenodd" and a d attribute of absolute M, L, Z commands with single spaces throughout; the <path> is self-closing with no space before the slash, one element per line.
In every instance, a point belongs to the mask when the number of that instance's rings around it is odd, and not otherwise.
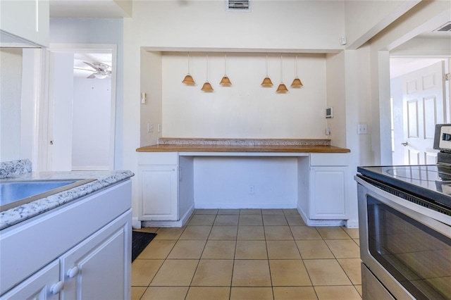
<path fill-rule="evenodd" d="M 22 49 L 0 49 L 0 161 L 20 158 Z"/>

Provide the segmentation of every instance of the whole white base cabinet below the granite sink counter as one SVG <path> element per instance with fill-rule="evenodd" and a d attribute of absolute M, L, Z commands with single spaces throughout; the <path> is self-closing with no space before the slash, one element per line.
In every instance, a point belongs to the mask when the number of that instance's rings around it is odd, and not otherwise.
<path fill-rule="evenodd" d="M 0 299 L 130 299 L 131 181 L 0 235 Z"/>

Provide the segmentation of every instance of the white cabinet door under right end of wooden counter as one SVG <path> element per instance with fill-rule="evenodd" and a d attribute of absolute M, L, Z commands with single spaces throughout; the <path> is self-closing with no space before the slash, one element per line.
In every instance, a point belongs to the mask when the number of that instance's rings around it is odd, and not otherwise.
<path fill-rule="evenodd" d="M 309 218 L 346 218 L 345 183 L 347 167 L 311 167 Z"/>

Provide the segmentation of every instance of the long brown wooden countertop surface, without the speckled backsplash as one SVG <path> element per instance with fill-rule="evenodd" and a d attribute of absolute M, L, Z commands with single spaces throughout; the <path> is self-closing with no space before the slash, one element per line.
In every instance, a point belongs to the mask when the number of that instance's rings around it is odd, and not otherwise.
<path fill-rule="evenodd" d="M 144 146 L 137 152 L 273 152 L 273 153 L 347 153 L 350 149 L 335 146 L 240 146 L 240 145 L 171 145 Z"/>

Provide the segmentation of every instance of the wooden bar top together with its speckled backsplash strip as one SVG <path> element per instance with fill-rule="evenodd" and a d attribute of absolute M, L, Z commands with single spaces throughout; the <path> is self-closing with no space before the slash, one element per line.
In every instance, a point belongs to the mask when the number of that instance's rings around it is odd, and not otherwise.
<path fill-rule="evenodd" d="M 158 144 L 137 152 L 279 152 L 347 153 L 350 149 L 330 146 L 330 139 L 187 139 L 160 138 Z"/>

